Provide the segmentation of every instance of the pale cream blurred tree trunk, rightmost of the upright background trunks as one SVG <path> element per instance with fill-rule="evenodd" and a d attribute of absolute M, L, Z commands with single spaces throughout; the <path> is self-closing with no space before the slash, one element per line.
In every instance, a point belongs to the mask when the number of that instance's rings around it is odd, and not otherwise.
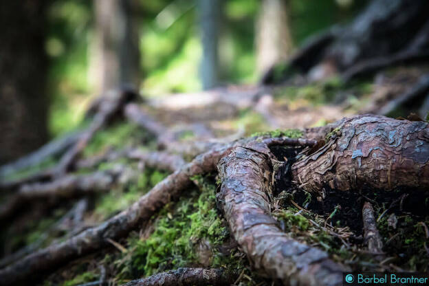
<path fill-rule="evenodd" d="M 256 23 L 256 68 L 259 74 L 292 53 L 286 0 L 263 0 Z"/>

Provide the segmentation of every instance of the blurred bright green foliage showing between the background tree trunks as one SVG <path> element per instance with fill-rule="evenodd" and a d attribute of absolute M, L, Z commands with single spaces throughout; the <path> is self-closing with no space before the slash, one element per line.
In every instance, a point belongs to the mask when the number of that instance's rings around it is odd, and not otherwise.
<path fill-rule="evenodd" d="M 201 43 L 197 0 L 140 1 L 142 93 L 159 96 L 197 91 Z M 344 23 L 367 1 L 289 0 L 294 42 L 299 45 L 333 23 Z M 260 1 L 223 1 L 219 62 L 223 83 L 256 82 L 254 27 Z M 91 88 L 94 57 L 92 2 L 56 0 L 48 11 L 45 48 L 51 58 L 49 74 L 52 104 L 50 131 L 58 135 L 83 118 Z"/>

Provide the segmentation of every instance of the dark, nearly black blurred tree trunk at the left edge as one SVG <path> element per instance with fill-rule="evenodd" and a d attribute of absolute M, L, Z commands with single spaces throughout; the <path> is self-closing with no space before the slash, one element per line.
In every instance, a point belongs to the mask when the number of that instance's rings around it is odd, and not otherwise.
<path fill-rule="evenodd" d="M 47 2 L 0 2 L 0 164 L 47 140 Z"/>

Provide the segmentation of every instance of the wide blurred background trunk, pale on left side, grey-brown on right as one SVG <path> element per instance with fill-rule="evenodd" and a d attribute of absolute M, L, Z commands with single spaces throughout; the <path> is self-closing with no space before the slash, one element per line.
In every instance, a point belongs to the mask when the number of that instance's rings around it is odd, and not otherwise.
<path fill-rule="evenodd" d="M 96 43 L 92 72 L 97 91 L 138 88 L 140 50 L 136 0 L 96 0 Z"/>

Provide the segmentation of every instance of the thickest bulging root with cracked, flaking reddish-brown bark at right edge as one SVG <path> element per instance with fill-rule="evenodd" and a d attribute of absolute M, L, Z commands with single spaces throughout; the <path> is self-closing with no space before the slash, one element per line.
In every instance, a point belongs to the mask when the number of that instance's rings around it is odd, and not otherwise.
<path fill-rule="evenodd" d="M 429 187 L 429 124 L 380 115 L 342 120 L 329 141 L 292 166 L 304 190 Z"/>

